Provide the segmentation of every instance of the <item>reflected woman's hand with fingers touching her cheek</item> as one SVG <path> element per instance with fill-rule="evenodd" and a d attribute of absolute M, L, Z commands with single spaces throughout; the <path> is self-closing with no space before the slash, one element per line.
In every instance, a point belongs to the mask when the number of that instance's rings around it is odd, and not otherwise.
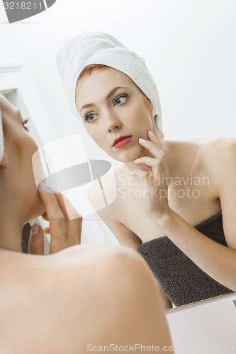
<path fill-rule="evenodd" d="M 152 132 L 148 132 L 150 140 L 139 139 L 140 145 L 145 147 L 153 157 L 142 156 L 134 161 L 145 167 L 146 171 L 132 171 L 132 176 L 143 179 L 145 188 L 145 213 L 150 219 L 160 219 L 171 210 L 168 204 L 168 166 L 164 146 L 161 140 Z M 147 193 L 148 191 L 148 193 Z"/>

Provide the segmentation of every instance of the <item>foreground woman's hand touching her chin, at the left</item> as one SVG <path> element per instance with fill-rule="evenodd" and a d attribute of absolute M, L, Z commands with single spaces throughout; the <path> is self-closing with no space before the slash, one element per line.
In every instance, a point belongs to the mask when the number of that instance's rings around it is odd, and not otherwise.
<path fill-rule="evenodd" d="M 50 253 L 55 253 L 69 246 L 80 244 L 82 216 L 77 213 L 76 219 L 69 220 L 67 209 L 60 193 L 39 193 L 46 209 L 46 212 L 42 217 L 49 221 L 50 225 L 49 227 L 42 229 L 39 224 L 33 224 L 28 242 L 29 253 L 43 254 L 43 233 L 50 234 L 51 236 Z M 69 205 L 69 207 L 76 212 L 71 205 Z"/>

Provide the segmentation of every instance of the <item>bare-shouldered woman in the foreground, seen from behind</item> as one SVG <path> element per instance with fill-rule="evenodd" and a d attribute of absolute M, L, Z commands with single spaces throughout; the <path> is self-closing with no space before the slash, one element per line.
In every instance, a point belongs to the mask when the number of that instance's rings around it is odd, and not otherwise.
<path fill-rule="evenodd" d="M 38 192 L 31 162 L 38 147 L 1 94 L 0 108 L 0 353 L 83 354 L 135 343 L 173 352 L 154 277 L 140 256 L 111 246 L 60 251 L 78 244 L 82 221 L 69 221 L 61 196 L 45 193 L 45 185 Z M 39 215 L 50 222 L 50 252 L 60 252 L 22 253 L 23 224 Z M 35 224 L 32 253 L 43 253 L 42 236 Z"/>

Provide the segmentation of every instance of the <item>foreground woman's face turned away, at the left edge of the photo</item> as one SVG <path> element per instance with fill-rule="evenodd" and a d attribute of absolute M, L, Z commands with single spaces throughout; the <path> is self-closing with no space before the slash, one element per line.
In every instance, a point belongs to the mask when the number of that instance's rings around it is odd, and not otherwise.
<path fill-rule="evenodd" d="M 27 218 L 32 219 L 44 212 L 32 167 L 32 156 L 38 147 L 28 134 L 28 128 L 19 110 L 3 96 L 0 97 L 0 103 L 4 123 L 4 147 L 8 161 L 6 190 L 17 195 L 19 204 L 24 201 Z"/>

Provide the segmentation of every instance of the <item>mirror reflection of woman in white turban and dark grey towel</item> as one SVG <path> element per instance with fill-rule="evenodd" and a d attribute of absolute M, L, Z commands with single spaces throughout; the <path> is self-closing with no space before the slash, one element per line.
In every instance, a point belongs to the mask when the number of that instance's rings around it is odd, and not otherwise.
<path fill-rule="evenodd" d="M 120 244 L 138 249 L 176 305 L 236 290 L 235 139 L 164 140 L 150 72 L 111 35 L 69 40 L 57 67 L 86 131 L 123 162 L 118 198 L 99 211 Z"/>

